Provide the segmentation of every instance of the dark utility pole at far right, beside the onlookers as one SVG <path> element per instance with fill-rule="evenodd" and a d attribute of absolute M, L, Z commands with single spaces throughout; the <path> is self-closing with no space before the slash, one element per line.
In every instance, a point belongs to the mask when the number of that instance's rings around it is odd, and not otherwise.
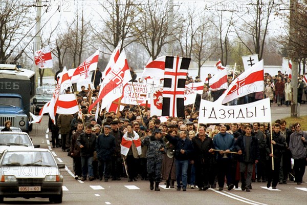
<path fill-rule="evenodd" d="M 297 6 L 297 0 L 291 0 L 290 1 L 290 30 L 289 30 L 289 35 L 290 35 L 290 39 L 291 37 L 293 37 L 293 34 L 295 32 L 295 12 L 297 12 L 296 10 L 296 6 Z M 291 86 L 292 86 L 292 96 L 293 96 L 293 100 L 292 100 L 292 105 L 291 105 L 291 117 L 298 117 L 298 104 L 297 104 L 297 63 L 298 60 L 297 59 L 292 59 L 292 81 L 291 81 Z"/>

